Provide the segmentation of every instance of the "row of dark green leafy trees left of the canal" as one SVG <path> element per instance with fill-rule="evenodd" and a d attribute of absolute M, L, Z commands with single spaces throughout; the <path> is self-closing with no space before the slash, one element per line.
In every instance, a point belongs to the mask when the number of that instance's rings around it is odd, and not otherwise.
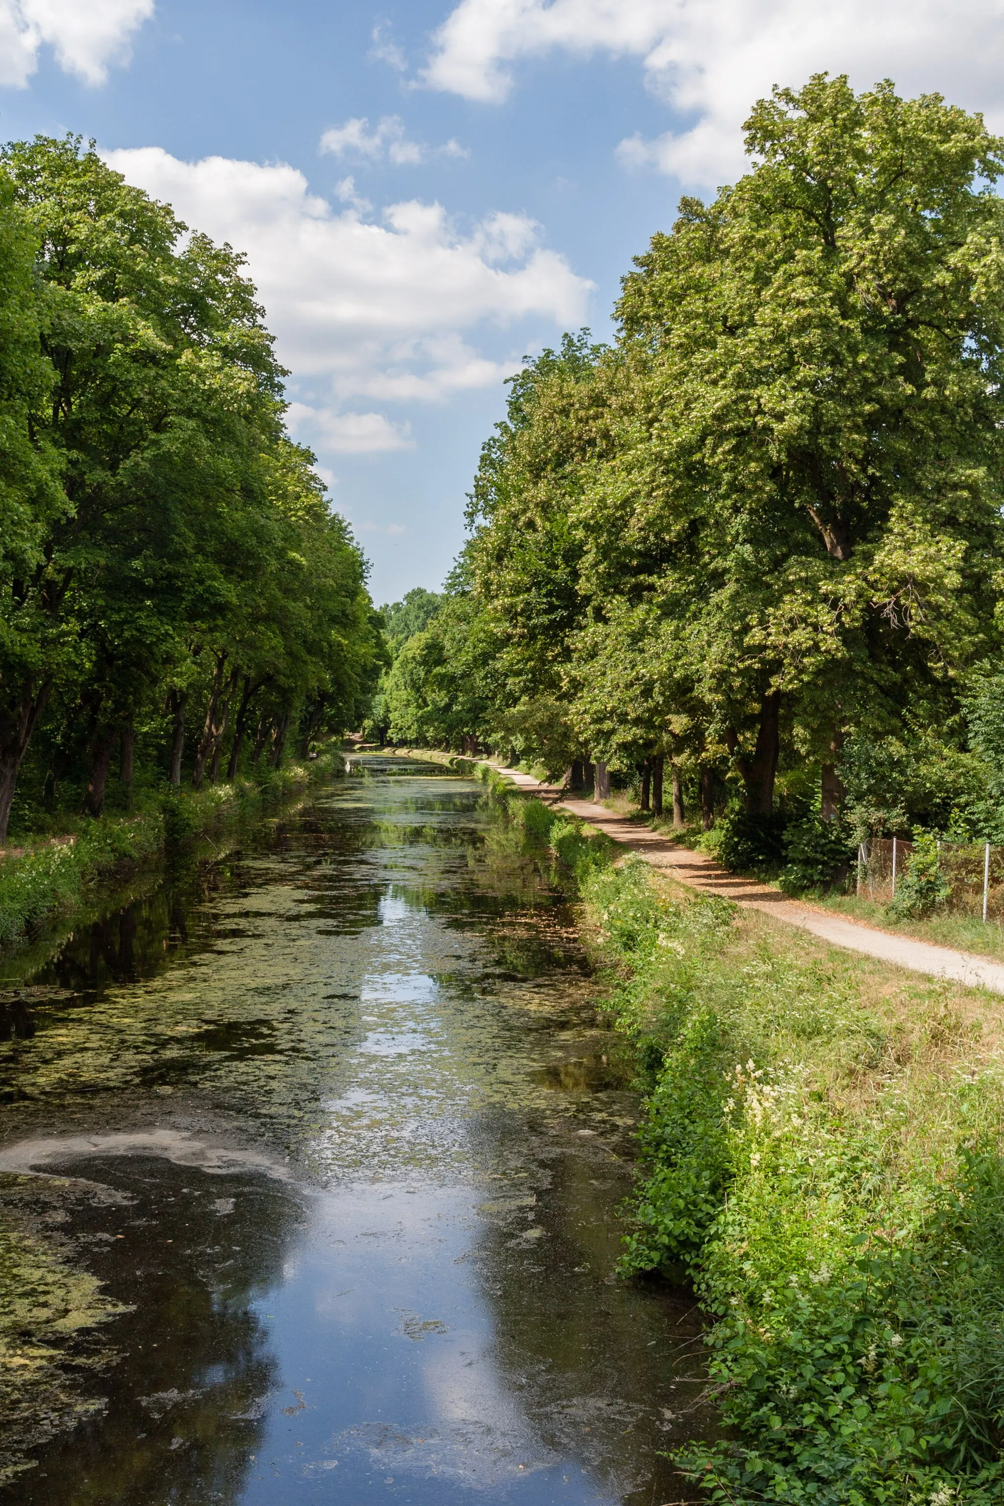
<path fill-rule="evenodd" d="M 366 562 L 242 258 L 78 139 L 0 154 L 0 843 L 358 721 Z"/>

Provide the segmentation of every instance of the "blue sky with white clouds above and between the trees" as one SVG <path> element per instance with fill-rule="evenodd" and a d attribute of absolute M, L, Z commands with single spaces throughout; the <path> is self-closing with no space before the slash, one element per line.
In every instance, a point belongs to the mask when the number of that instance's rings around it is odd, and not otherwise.
<path fill-rule="evenodd" d="M 0 0 L 0 130 L 248 256 L 379 601 L 435 587 L 524 352 L 610 331 L 682 190 L 817 69 L 1004 130 L 1004 0 Z"/>

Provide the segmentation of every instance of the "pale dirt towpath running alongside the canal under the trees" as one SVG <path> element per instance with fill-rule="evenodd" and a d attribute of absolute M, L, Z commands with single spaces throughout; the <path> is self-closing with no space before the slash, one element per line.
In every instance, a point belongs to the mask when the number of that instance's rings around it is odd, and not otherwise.
<path fill-rule="evenodd" d="M 720 867 L 704 852 L 680 848 L 658 831 L 652 831 L 650 827 L 617 816 L 605 806 L 593 804 L 592 800 L 575 800 L 557 786 L 543 785 L 516 768 L 498 768 L 498 773 L 510 779 L 519 789 L 558 804 L 581 821 L 587 821 L 589 825 L 605 831 L 614 842 L 637 852 L 646 863 L 670 873 L 680 884 L 700 889 L 704 895 L 733 899 L 739 905 L 760 910 L 786 925 L 810 931 L 832 946 L 864 952 L 866 956 L 878 956 L 882 962 L 893 962 L 912 973 L 950 977 L 969 988 L 989 988 L 995 994 L 1004 994 L 1004 962 L 995 962 L 992 958 L 978 956 L 974 952 L 956 952 L 953 947 L 891 935 L 888 931 L 878 931 L 875 926 L 864 926 L 856 920 L 843 920 L 825 910 L 817 910 L 814 905 L 807 905 L 801 899 L 787 899 L 775 889 L 757 884 L 756 880 L 738 878 Z"/>

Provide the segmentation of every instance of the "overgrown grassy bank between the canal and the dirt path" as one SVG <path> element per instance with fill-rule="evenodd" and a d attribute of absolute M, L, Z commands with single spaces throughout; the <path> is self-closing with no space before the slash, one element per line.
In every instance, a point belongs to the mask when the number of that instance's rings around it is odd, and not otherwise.
<path fill-rule="evenodd" d="M 623 1274 L 688 1280 L 713 1319 L 733 1438 L 680 1467 L 730 1506 L 999 1506 L 989 1001 L 614 866 L 563 813 L 501 798 L 577 875 L 646 1089 Z"/>

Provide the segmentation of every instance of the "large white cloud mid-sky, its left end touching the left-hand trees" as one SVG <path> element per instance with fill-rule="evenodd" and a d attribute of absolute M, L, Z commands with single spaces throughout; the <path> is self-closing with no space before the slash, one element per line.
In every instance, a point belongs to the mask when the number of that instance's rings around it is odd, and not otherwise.
<path fill-rule="evenodd" d="M 586 316 L 593 285 L 542 247 L 524 215 L 494 214 L 464 233 L 441 205 L 406 200 L 373 223 L 351 178 L 337 187 L 351 208 L 337 211 L 284 164 L 184 163 L 157 146 L 105 160 L 187 224 L 247 252 L 294 372 L 291 419 L 324 450 L 406 447 L 406 426 L 351 410 L 443 402 L 516 369 L 518 357 L 500 363 L 477 349 L 479 327 L 531 316 L 573 328 Z"/>

